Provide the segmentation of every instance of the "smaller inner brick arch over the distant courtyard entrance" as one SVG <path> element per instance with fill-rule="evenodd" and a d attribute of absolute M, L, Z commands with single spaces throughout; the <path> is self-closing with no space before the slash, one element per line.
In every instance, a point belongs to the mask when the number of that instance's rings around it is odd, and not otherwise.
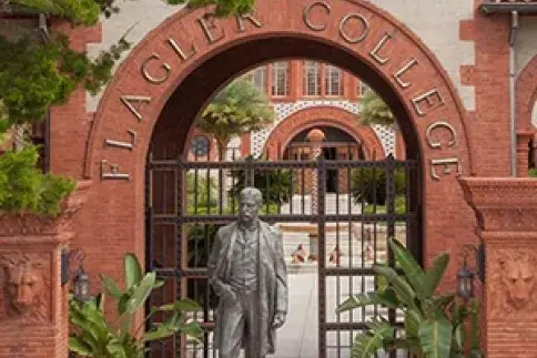
<path fill-rule="evenodd" d="M 356 114 L 335 106 L 313 106 L 291 114 L 271 132 L 263 153 L 267 153 L 268 158 L 272 160 L 282 157 L 284 150 L 296 134 L 318 125 L 334 126 L 349 134 L 356 142 L 362 143 L 367 160 L 373 158 L 373 153 L 377 158 L 385 156 L 375 132 L 368 126 L 359 125 Z"/>

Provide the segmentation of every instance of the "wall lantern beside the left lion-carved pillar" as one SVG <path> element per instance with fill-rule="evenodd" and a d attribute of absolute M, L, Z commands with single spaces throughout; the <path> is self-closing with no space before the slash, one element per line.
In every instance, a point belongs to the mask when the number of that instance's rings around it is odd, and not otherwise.
<path fill-rule="evenodd" d="M 64 286 L 72 279 L 73 297 L 80 301 L 91 299 L 91 283 L 90 276 L 84 270 L 84 258 L 85 254 L 81 249 L 61 250 L 61 285 Z"/>

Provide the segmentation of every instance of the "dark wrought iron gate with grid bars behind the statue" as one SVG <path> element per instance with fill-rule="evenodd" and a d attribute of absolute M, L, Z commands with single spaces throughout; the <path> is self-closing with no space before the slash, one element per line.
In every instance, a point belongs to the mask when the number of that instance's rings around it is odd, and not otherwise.
<path fill-rule="evenodd" d="M 194 346 L 178 336 L 152 344 L 150 357 L 217 357 L 211 333 L 215 297 L 206 282 L 206 258 L 216 229 L 235 219 L 236 194 L 246 185 L 263 192 L 261 218 L 284 232 L 290 272 L 316 267 L 317 357 L 349 357 L 354 336 L 375 316 L 399 324 L 402 317 L 383 307 L 342 315 L 335 308 L 349 294 L 374 289 L 373 263 L 394 264 L 387 237 L 397 237 L 421 257 L 416 161 L 392 156 L 384 161 L 355 161 L 352 156 L 281 162 L 206 158 L 150 157 L 148 162 L 146 264 L 165 280 L 150 305 L 180 297 L 196 299 L 204 308 L 192 318 L 205 328 L 204 345 Z M 328 175 L 337 175 L 331 178 L 337 186 L 335 193 L 326 191 Z M 310 257 L 304 257 L 305 263 L 300 263 L 296 243 L 286 238 L 286 231 L 307 235 Z M 290 297 L 290 319 L 292 300 Z M 161 319 L 153 316 L 149 325 Z"/>

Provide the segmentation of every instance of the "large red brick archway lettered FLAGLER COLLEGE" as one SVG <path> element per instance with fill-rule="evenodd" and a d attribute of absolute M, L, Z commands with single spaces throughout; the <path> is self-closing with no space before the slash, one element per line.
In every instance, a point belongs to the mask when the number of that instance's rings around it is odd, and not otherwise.
<path fill-rule="evenodd" d="M 259 0 L 255 17 L 210 21 L 203 9 L 182 10 L 148 34 L 116 70 L 93 120 L 84 122 L 91 125 L 88 141 L 77 143 L 83 142 L 85 155 L 72 149 L 80 121 L 69 109 L 54 110 L 62 126 L 54 132 L 51 170 L 72 173 L 84 163 L 75 175 L 94 182 L 73 243 L 89 248 L 90 270 L 118 274 L 124 252 L 144 256 L 152 137 L 176 145 L 166 149 L 176 157 L 200 111 L 231 78 L 290 58 L 331 62 L 362 78 L 401 119 L 406 153 L 423 167 L 415 192 L 424 204 L 424 260 L 474 235 L 457 181 L 473 165 L 466 112 L 425 44 L 369 1 Z"/>

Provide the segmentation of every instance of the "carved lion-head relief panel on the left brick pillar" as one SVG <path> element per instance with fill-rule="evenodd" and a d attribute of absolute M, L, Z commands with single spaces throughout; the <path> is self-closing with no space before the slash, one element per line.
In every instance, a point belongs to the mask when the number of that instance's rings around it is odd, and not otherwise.
<path fill-rule="evenodd" d="M 51 317 L 48 254 L 0 254 L 0 321 L 44 323 Z"/>

